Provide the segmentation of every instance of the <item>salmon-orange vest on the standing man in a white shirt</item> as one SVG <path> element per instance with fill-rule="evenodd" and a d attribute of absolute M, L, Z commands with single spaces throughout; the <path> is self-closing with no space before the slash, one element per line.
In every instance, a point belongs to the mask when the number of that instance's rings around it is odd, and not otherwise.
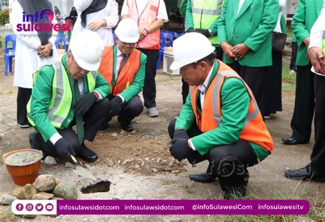
<path fill-rule="evenodd" d="M 139 29 L 147 29 L 154 21 L 157 20 L 158 8 L 160 0 L 149 0 L 145 9 L 141 14 L 138 12 L 136 0 L 128 0 L 129 17 L 138 23 Z M 153 33 L 149 33 L 147 37 L 140 40 L 139 48 L 159 49 L 160 48 L 160 29 Z"/>

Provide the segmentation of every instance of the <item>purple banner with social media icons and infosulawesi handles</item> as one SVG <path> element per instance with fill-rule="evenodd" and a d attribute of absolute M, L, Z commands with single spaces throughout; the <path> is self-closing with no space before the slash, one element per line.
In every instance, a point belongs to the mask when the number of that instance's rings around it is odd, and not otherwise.
<path fill-rule="evenodd" d="M 14 214 L 308 214 L 306 199 L 15 200 Z"/>

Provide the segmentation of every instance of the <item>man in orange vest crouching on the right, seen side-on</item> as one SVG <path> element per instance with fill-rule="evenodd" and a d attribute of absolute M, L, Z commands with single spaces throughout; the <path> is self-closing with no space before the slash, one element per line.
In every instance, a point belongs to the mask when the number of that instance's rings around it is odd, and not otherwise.
<path fill-rule="evenodd" d="M 189 45 L 191 47 L 189 48 Z M 195 182 L 219 179 L 225 199 L 245 196 L 247 167 L 272 153 L 274 145 L 248 85 L 229 66 L 213 58 L 215 47 L 201 33 L 175 40 L 171 70 L 180 68 L 189 96 L 169 124 L 171 155 L 194 164 L 208 160 Z"/>

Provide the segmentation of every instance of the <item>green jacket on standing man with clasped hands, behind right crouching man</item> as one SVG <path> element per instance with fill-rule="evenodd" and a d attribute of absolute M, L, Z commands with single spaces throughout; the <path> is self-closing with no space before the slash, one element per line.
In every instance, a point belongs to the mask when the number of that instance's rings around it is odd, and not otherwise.
<path fill-rule="evenodd" d="M 238 6 L 239 0 L 225 1 L 218 25 L 219 44 L 248 46 L 250 51 L 239 60 L 241 66 L 272 66 L 271 33 L 278 20 L 278 0 L 246 0 L 237 15 Z M 224 62 L 234 60 L 224 55 Z"/>

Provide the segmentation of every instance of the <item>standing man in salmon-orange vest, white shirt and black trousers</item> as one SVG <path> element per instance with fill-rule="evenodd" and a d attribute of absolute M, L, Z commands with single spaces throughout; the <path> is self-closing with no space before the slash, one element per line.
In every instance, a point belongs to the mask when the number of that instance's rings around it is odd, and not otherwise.
<path fill-rule="evenodd" d="M 156 108 L 156 64 L 160 49 L 160 27 L 168 22 L 163 0 L 125 0 L 121 11 L 122 19 L 132 18 L 139 27 L 139 42 L 136 48 L 147 55 L 143 99 L 149 117 L 159 115 Z"/>

